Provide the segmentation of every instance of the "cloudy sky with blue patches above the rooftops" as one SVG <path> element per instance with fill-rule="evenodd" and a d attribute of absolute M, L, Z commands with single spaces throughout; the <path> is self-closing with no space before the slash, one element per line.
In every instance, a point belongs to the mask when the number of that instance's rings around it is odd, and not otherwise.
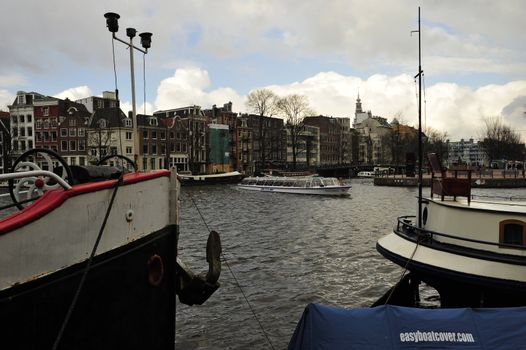
<path fill-rule="evenodd" d="M 374 115 L 416 126 L 418 6 L 426 126 L 477 139 L 484 118 L 501 116 L 526 141 L 523 0 L 6 0 L 0 109 L 19 90 L 70 99 L 114 90 L 111 11 L 118 37 L 127 27 L 153 33 L 150 52 L 134 56 L 139 112 L 228 101 L 246 112 L 248 93 L 269 88 L 350 118 L 359 93 Z M 126 111 L 129 52 L 119 42 L 115 59 Z"/>

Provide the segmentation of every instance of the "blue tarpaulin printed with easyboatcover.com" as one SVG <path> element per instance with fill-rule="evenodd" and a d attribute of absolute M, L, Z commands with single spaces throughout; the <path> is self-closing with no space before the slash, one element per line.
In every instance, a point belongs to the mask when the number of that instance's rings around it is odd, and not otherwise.
<path fill-rule="evenodd" d="M 309 304 L 289 350 L 526 349 L 526 307 L 343 309 Z"/>

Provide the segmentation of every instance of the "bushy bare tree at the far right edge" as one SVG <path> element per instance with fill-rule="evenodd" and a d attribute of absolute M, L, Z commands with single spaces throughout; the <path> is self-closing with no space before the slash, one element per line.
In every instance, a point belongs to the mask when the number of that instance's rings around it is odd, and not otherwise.
<path fill-rule="evenodd" d="M 485 118 L 484 126 L 481 138 L 490 163 L 497 159 L 519 160 L 524 157 L 520 134 L 504 124 L 502 117 Z"/>

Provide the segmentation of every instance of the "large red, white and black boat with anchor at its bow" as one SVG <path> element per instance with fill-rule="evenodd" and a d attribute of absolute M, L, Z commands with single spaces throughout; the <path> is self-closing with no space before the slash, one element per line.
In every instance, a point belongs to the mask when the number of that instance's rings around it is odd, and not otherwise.
<path fill-rule="evenodd" d="M 206 281 L 177 257 L 175 170 L 68 166 L 36 149 L 0 179 L 13 202 L 4 209 L 19 209 L 0 220 L 0 327 L 10 348 L 173 348 L 176 294 L 195 304 L 217 289 L 216 233 Z"/>

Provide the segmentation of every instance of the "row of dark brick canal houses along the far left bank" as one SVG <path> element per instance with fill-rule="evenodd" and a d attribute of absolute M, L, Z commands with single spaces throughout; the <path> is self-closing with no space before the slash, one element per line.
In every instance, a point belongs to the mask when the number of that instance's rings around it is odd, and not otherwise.
<path fill-rule="evenodd" d="M 113 92 L 71 101 L 20 91 L 8 107 L 9 113 L 0 114 L 2 172 L 32 148 L 56 151 L 70 165 L 138 154 L 140 170 L 175 166 L 194 174 L 291 168 L 293 158 L 296 169 L 351 164 L 360 158 L 359 137 L 349 118 L 306 117 L 293 157 L 283 119 L 236 113 L 230 102 L 211 109 L 188 106 L 138 114 L 138 135 Z M 137 153 L 134 137 L 139 138 Z"/>

